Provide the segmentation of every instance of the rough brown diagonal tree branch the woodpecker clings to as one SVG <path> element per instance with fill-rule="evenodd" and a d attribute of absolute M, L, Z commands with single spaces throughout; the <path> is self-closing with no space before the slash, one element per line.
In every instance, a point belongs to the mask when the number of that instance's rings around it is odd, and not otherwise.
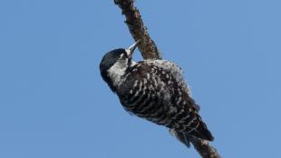
<path fill-rule="evenodd" d="M 126 16 L 125 23 L 135 41 L 140 40 L 138 45 L 144 59 L 160 59 L 161 55 L 156 44 L 150 38 L 146 26 L 143 24 L 139 10 L 133 5 L 133 0 L 114 0 L 115 5 L 121 8 L 122 15 Z M 202 158 L 221 158 L 216 148 L 208 141 L 190 136 L 190 142 Z"/>

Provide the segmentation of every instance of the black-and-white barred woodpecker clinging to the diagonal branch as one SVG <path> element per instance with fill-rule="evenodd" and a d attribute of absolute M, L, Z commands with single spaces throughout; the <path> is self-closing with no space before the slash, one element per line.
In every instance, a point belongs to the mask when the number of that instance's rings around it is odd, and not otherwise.
<path fill-rule="evenodd" d="M 213 141 L 179 65 L 161 59 L 134 62 L 132 54 L 139 43 L 111 50 L 100 63 L 102 79 L 118 95 L 123 108 L 168 127 L 188 147 L 190 137 Z"/>

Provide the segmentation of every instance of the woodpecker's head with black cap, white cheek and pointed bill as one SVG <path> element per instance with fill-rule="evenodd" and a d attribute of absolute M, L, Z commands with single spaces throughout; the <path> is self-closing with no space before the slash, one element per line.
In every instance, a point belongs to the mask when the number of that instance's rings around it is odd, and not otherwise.
<path fill-rule="evenodd" d="M 114 49 L 103 55 L 100 64 L 102 79 L 109 84 L 113 92 L 116 91 L 116 86 L 121 82 L 121 76 L 131 66 L 131 57 L 139 42 L 137 41 L 127 49 Z"/>

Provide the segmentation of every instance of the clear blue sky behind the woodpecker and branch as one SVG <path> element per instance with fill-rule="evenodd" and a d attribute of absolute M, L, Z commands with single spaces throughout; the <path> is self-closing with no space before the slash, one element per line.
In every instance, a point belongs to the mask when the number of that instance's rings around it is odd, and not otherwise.
<path fill-rule="evenodd" d="M 219 153 L 279 158 L 281 2 L 136 5 L 185 71 Z M 123 21 L 113 0 L 0 1 L 1 158 L 199 157 L 103 83 L 102 55 L 133 43 Z"/>

